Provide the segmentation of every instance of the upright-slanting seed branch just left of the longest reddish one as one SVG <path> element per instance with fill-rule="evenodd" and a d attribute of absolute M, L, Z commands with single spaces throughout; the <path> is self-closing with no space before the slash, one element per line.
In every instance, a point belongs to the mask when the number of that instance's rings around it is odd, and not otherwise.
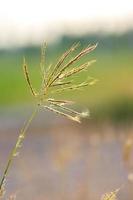
<path fill-rule="evenodd" d="M 61 67 L 61 65 L 63 64 L 64 60 L 70 55 L 70 53 L 72 53 L 73 51 L 75 51 L 77 49 L 77 47 L 79 46 L 79 43 L 72 45 L 72 47 L 70 49 L 68 49 L 59 59 L 59 61 L 57 62 L 57 64 L 55 65 L 54 69 L 52 70 L 52 72 L 49 74 L 49 78 L 48 78 L 48 82 L 47 85 L 49 85 L 49 82 L 52 81 L 51 79 L 53 78 L 53 76 L 58 72 L 59 68 Z"/>

